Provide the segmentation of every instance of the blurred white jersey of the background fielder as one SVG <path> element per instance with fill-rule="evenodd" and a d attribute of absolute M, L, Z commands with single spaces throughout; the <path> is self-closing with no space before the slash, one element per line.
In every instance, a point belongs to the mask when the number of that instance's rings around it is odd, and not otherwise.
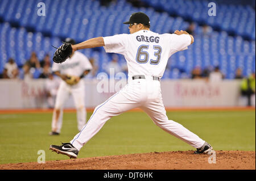
<path fill-rule="evenodd" d="M 91 70 L 92 64 L 90 64 L 88 58 L 80 53 L 75 52 L 71 58 L 68 58 L 61 64 L 53 62 L 52 71 L 60 71 L 61 74 L 74 75 L 80 77 L 85 70 Z"/>

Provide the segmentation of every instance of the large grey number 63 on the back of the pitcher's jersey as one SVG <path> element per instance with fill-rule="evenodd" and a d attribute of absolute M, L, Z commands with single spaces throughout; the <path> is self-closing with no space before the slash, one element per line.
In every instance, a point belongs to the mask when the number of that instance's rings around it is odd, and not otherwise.
<path fill-rule="evenodd" d="M 154 45 L 153 48 L 155 50 L 154 52 L 155 60 L 150 59 L 150 64 L 158 65 L 161 58 L 162 48 L 159 45 Z M 147 52 L 147 49 L 148 49 L 148 45 L 139 46 L 137 50 L 137 55 L 136 55 L 136 61 L 139 64 L 146 64 L 148 62 L 149 54 Z"/>

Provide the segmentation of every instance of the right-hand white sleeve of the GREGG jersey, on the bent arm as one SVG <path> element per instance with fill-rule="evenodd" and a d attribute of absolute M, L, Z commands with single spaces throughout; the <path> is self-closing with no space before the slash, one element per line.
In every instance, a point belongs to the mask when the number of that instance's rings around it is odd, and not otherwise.
<path fill-rule="evenodd" d="M 188 46 L 191 44 L 191 36 L 186 34 L 183 34 L 183 35 L 171 34 L 170 44 L 171 44 L 171 49 L 175 51 L 188 49 Z"/>

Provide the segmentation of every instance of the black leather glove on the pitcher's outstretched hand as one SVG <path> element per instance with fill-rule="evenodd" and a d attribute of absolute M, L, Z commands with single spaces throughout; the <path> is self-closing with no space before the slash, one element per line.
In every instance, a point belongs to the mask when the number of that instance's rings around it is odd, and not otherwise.
<path fill-rule="evenodd" d="M 72 54 L 72 47 L 70 43 L 63 43 L 59 48 L 56 49 L 52 58 L 53 62 L 59 64 L 67 60 Z"/>

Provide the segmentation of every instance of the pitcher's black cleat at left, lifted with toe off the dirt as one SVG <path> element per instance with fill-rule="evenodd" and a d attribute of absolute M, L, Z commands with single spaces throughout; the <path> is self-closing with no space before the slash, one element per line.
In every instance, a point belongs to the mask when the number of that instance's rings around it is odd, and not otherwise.
<path fill-rule="evenodd" d="M 55 151 L 57 154 L 65 154 L 68 155 L 69 158 L 77 158 L 79 150 L 77 150 L 72 144 L 62 143 L 62 145 L 50 145 L 50 150 Z"/>

